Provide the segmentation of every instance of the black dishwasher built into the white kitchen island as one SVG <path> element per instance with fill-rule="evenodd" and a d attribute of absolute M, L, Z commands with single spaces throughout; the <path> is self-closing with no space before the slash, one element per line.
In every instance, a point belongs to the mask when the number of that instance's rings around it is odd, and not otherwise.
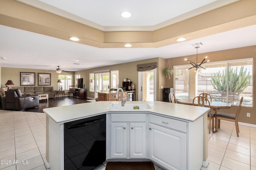
<path fill-rule="evenodd" d="M 64 123 L 65 170 L 92 170 L 106 161 L 106 114 Z"/>

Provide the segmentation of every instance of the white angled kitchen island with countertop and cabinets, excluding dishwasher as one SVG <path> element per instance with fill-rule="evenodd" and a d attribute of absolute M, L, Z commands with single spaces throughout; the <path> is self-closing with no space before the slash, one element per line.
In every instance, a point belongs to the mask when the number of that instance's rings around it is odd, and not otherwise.
<path fill-rule="evenodd" d="M 45 162 L 53 170 L 64 169 L 64 124 L 97 115 L 106 115 L 106 161 L 151 160 L 165 169 L 184 170 L 208 165 L 206 107 L 158 101 L 126 102 L 124 107 L 121 102 L 92 102 L 43 111 Z"/>

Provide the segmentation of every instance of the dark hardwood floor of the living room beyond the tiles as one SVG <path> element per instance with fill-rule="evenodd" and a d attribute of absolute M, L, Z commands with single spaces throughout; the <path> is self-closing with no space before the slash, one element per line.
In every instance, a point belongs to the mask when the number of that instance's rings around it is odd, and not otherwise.
<path fill-rule="evenodd" d="M 44 101 L 44 100 L 39 100 L 39 108 L 37 108 L 37 109 L 29 108 L 29 109 L 25 109 L 25 111 L 41 112 L 42 113 L 44 108 L 88 103 L 87 100 L 90 100 L 90 99 L 74 98 L 73 96 L 70 96 L 70 97 L 68 97 L 68 96 L 65 96 L 65 97 L 59 96 L 57 98 L 49 99 L 48 102 Z"/>

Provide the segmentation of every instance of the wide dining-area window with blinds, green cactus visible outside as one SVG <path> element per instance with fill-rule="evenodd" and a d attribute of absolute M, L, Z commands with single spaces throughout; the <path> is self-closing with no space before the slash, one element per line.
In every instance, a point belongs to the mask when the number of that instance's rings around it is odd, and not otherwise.
<path fill-rule="evenodd" d="M 253 59 L 241 59 L 204 64 L 204 69 L 174 66 L 176 98 L 194 98 L 202 92 L 210 93 L 213 100 L 243 106 L 253 104 Z"/>

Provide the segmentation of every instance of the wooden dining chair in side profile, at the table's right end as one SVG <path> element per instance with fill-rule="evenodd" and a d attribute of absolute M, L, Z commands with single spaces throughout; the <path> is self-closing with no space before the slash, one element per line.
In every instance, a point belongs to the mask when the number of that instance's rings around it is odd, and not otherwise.
<path fill-rule="evenodd" d="M 239 137 L 238 132 L 239 132 L 239 127 L 238 127 L 238 116 L 242 107 L 242 102 L 243 102 L 244 97 L 241 97 L 238 109 L 236 111 L 236 114 L 233 113 L 223 113 L 223 112 L 218 112 L 216 113 L 216 132 L 218 132 L 218 128 L 220 128 L 220 120 L 225 120 L 225 121 L 232 121 L 236 125 L 236 135 Z"/>

